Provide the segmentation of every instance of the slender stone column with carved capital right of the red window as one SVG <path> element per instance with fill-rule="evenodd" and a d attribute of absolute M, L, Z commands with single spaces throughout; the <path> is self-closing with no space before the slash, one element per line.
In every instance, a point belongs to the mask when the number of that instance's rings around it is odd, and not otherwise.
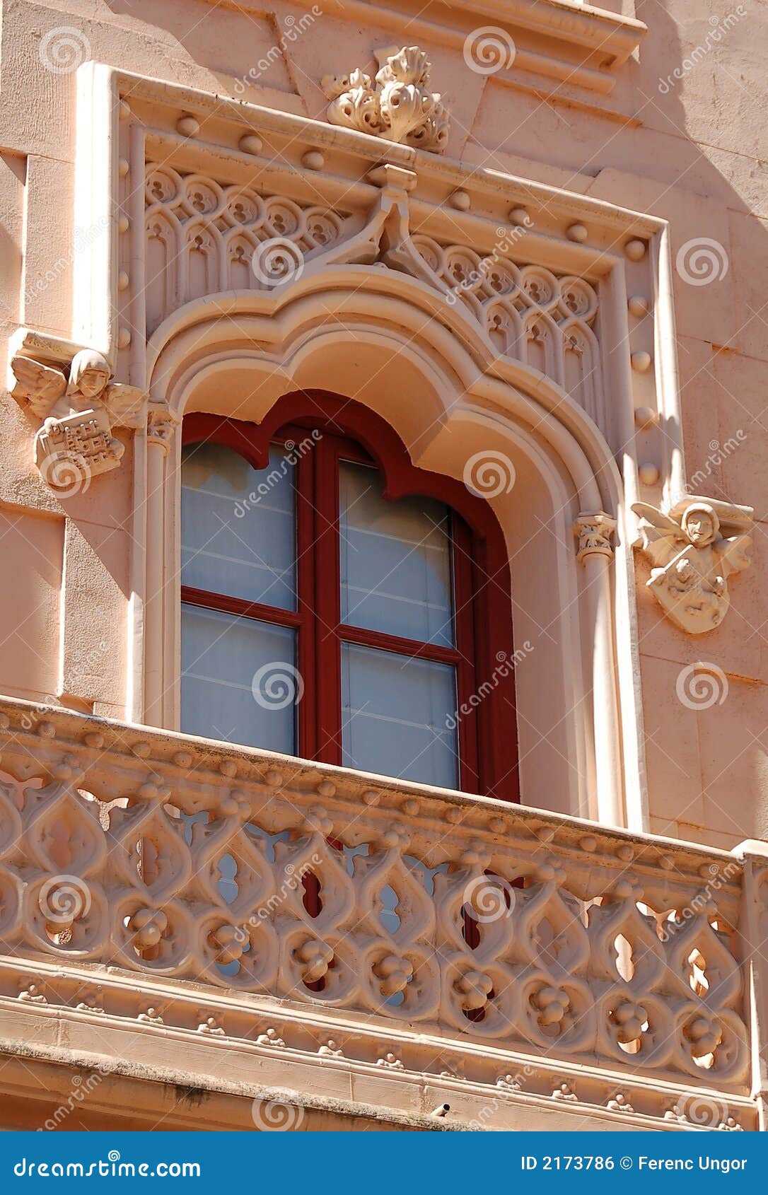
<path fill-rule="evenodd" d="M 613 633 L 610 564 L 616 520 L 602 510 L 579 514 L 577 559 L 586 574 L 584 594 L 592 632 L 592 727 L 597 819 L 603 826 L 626 826 L 619 739 L 619 701 Z"/>

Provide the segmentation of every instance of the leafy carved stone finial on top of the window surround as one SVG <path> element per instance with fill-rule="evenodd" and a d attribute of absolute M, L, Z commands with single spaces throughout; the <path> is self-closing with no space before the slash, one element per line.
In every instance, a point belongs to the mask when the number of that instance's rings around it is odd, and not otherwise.
<path fill-rule="evenodd" d="M 320 85 L 331 100 L 326 116 L 345 129 L 442 153 L 450 118 L 429 90 L 430 69 L 424 50 L 407 45 L 385 61 L 375 80 L 360 69 L 326 75 Z"/>

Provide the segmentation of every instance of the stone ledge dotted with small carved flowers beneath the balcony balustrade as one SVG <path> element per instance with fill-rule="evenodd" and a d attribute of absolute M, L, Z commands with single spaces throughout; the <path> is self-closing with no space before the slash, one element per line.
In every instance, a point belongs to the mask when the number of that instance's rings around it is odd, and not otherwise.
<path fill-rule="evenodd" d="M 438 1128 L 578 1132 L 585 1122 L 609 1132 L 680 1132 L 711 1127 L 708 1122 L 700 1124 L 695 1120 L 666 1115 L 669 1109 L 686 1107 L 690 1101 L 711 1108 L 713 1115 L 717 1111 L 718 1120 L 726 1122 L 731 1117 L 745 1130 L 756 1128 L 754 1101 L 736 1091 L 688 1086 L 661 1076 L 620 1073 L 612 1067 L 584 1065 L 573 1059 L 526 1055 L 490 1042 L 478 1047 L 450 1036 L 414 1034 L 403 1025 L 388 1025 L 381 1018 L 340 1010 L 291 1006 L 265 997 L 238 997 L 167 979 L 148 982 L 115 968 L 92 964 L 54 968 L 31 960 L 20 964 L 17 960 L 0 963 L 0 978 L 7 972 L 26 976 L 26 982 L 33 979 L 37 989 L 47 991 L 51 999 L 32 1004 L 0 995 L 0 1054 L 6 1052 L 24 1059 L 96 1071 L 100 1079 L 107 1076 L 116 1080 L 161 1083 L 165 1093 L 154 1103 L 149 1102 L 150 1109 L 160 1108 L 162 1101 L 171 1098 L 168 1092 L 177 1089 L 226 1096 L 234 1101 L 234 1110 L 222 1114 L 221 1126 L 209 1126 L 214 1128 L 251 1129 L 250 1109 L 241 1105 L 245 1099 L 251 1103 L 254 1098 L 266 1099 L 262 1091 L 282 1092 L 283 1104 L 289 1102 L 318 1113 L 325 1114 L 331 1105 L 334 1109 L 362 1107 L 368 1109 L 367 1116 L 373 1109 L 377 1120 L 389 1121 L 398 1116 L 406 1117 L 410 1123 L 414 1117 L 417 1128 L 429 1129 L 436 1127 L 429 1113 L 443 1103 L 450 1105 L 451 1113 L 447 1121 L 437 1121 Z M 66 1003 L 54 1003 L 54 981 L 60 985 L 61 1000 L 67 999 L 69 982 L 78 982 L 81 997 L 98 985 L 105 1007 L 117 1001 L 121 1011 L 98 1013 L 82 1005 L 73 1009 Z M 162 1010 L 162 1022 L 136 1017 L 136 1007 L 147 1004 Z M 195 1018 L 203 1015 L 202 1010 L 195 1010 L 201 1006 L 204 1013 L 213 1013 L 217 1025 L 229 1027 L 226 1035 L 195 1030 Z M 270 1034 L 271 1040 L 265 1041 Z M 344 1056 L 336 1056 L 333 1052 L 324 1055 L 318 1049 L 320 1042 L 330 1046 L 345 1042 Z M 386 1048 L 397 1052 L 401 1060 L 399 1068 L 373 1062 L 376 1053 Z M 185 1070 L 177 1067 L 178 1058 L 184 1059 Z M 463 1077 L 465 1067 L 473 1078 Z M 511 1080 L 506 1085 L 497 1079 L 503 1074 Z M 7 1067 L 4 1068 L 5 1084 Z M 73 1086 L 72 1079 L 69 1086 Z M 102 1081 L 98 1086 L 102 1091 Z M 51 1087 L 60 1090 L 56 1084 Z M 291 1092 L 290 1099 L 287 1091 Z M 24 1095 L 29 1099 L 42 1098 L 32 1092 Z M 102 1095 L 106 1099 L 106 1087 Z M 110 1095 L 109 1101 L 111 1098 Z M 112 1107 L 109 1101 L 107 1110 Z M 626 1107 L 621 1105 L 622 1101 Z M 143 1109 L 145 1103 L 140 1099 L 137 1107 Z M 185 1109 L 177 1109 L 173 1115 L 180 1116 L 182 1111 L 186 1116 Z M 162 1115 L 168 1115 L 167 1108 Z M 209 1120 L 205 1115 L 205 1121 Z M 425 1126 L 420 1124 L 423 1120 L 428 1122 Z M 196 1127 L 193 1120 L 190 1124 Z M 188 1122 L 174 1127 L 188 1127 Z M 399 1127 L 399 1122 L 394 1127 Z"/>

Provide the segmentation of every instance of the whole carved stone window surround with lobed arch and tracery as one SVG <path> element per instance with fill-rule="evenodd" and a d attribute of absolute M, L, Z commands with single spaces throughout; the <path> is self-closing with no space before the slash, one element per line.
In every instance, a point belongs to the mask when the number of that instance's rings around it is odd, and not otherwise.
<path fill-rule="evenodd" d="M 334 390 L 422 467 L 466 479 L 484 455 L 508 464 L 514 485 L 489 501 L 516 645 L 534 644 L 518 666 L 523 799 L 645 828 L 638 405 L 665 429 L 645 436 L 659 480 L 643 497 L 683 491 L 665 225 L 96 63 L 78 72 L 75 223 L 91 234 L 72 343 L 21 343 L 49 363 L 98 350 L 148 394 L 129 716 L 178 717 L 183 413 L 259 419 L 289 390 Z"/>

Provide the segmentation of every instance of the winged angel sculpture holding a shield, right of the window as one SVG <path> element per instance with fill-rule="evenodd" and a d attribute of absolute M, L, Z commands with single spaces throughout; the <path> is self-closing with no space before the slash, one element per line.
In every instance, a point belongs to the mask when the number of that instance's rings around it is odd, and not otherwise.
<path fill-rule="evenodd" d="M 640 516 L 641 550 L 651 562 L 647 588 L 682 631 L 712 631 L 727 613 L 727 578 L 750 562 L 751 539 L 742 534 L 744 509 L 731 507 L 732 527 L 724 535 L 720 516 L 708 502 L 689 502 L 662 514 L 645 502 L 632 507 Z M 726 514 L 723 515 L 726 522 Z"/>

